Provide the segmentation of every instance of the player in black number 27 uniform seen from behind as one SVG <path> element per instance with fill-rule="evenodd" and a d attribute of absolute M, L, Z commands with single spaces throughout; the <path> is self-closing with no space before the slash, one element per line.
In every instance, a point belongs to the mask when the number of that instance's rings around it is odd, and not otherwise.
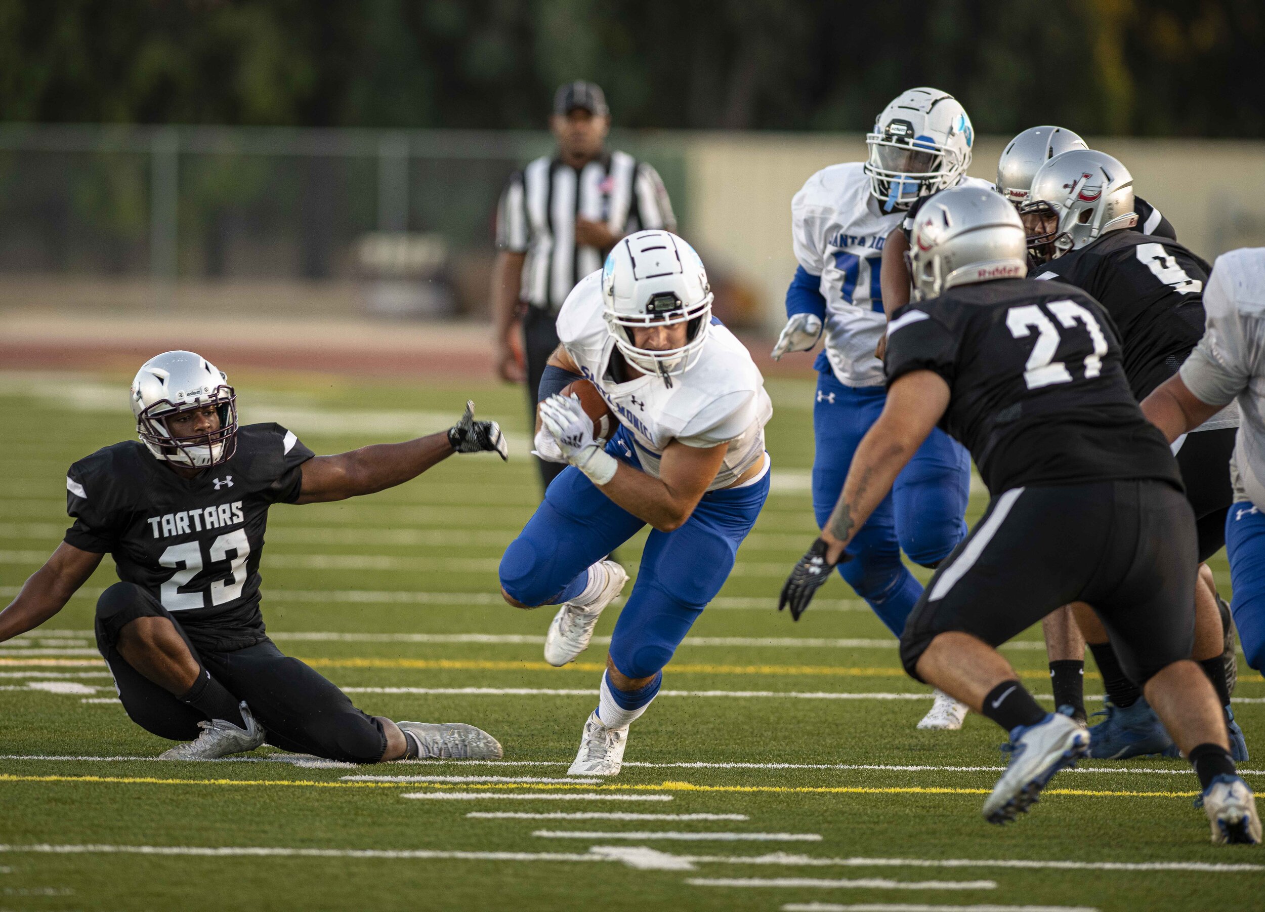
<path fill-rule="evenodd" d="M 1009 732 L 1011 761 L 984 816 L 1013 820 L 1089 749 L 1084 727 L 1039 706 L 996 649 L 1085 602 L 1190 758 L 1213 841 L 1259 842 L 1217 694 L 1190 660 L 1194 514 L 1168 443 L 1130 392 L 1111 316 L 1079 288 L 1022 278 L 1023 225 L 993 191 L 945 190 L 925 204 L 910 271 L 920 300 L 888 324 L 887 406 L 779 607 L 807 608 L 939 425 L 970 450 L 992 501 L 918 600 L 901 659 Z"/>

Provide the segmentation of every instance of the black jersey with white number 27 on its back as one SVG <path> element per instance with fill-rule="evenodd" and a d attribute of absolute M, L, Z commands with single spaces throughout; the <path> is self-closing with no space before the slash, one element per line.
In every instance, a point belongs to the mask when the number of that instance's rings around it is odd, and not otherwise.
<path fill-rule="evenodd" d="M 888 385 L 911 371 L 949 383 L 940 426 L 994 495 L 1123 478 L 1182 488 L 1164 435 L 1128 390 L 1111 316 L 1079 288 L 1015 278 L 907 304 L 888 325 Z"/>

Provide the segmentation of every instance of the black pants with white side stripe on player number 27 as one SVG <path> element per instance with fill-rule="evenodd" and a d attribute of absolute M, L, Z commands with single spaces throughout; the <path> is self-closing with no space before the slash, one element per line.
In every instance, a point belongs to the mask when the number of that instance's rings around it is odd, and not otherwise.
<path fill-rule="evenodd" d="M 999 646 L 1061 605 L 1087 602 L 1141 686 L 1194 648 L 1194 514 L 1175 487 L 1135 479 L 1012 488 L 936 570 L 901 636 L 916 667 L 936 636 Z"/>

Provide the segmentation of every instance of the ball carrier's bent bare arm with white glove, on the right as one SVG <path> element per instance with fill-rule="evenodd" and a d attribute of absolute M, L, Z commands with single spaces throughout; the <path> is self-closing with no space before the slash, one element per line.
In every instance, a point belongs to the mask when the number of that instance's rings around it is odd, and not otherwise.
<path fill-rule="evenodd" d="M 659 477 L 620 462 L 593 440 L 593 420 L 578 400 L 550 396 L 540 404 L 540 420 L 563 457 L 602 488 L 602 493 L 660 533 L 684 525 L 725 462 L 727 443 L 687 447 L 669 443 L 659 459 Z"/>

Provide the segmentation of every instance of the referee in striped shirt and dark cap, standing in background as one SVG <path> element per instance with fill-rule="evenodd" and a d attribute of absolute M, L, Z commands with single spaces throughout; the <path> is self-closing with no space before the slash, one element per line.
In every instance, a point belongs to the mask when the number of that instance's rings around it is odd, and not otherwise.
<path fill-rule="evenodd" d="M 558 347 L 554 319 L 567 295 L 581 278 L 602 268 L 624 235 L 677 226 L 658 172 L 626 152 L 605 148 L 610 126 L 598 86 L 568 82 L 559 87 L 549 118 L 557 152 L 511 175 L 497 209 L 496 369 L 502 379 L 526 382 L 531 426 L 540 376 Z M 515 350 L 520 324 L 525 369 Z M 565 468 L 538 463 L 545 487 Z"/>

